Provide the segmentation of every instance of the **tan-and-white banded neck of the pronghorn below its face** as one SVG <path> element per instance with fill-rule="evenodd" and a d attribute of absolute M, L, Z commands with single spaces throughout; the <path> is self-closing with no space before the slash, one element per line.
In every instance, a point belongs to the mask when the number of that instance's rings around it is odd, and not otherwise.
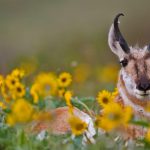
<path fill-rule="evenodd" d="M 126 87 L 125 87 L 125 81 L 122 78 L 122 74 L 120 72 L 119 80 L 118 80 L 118 90 L 119 94 L 121 96 L 122 102 L 124 105 L 131 106 L 135 112 L 135 114 L 138 114 L 140 116 L 144 116 L 146 118 L 150 119 L 150 112 L 145 111 L 145 107 L 147 106 L 147 101 L 141 101 L 137 99 L 135 96 L 131 95 Z"/>

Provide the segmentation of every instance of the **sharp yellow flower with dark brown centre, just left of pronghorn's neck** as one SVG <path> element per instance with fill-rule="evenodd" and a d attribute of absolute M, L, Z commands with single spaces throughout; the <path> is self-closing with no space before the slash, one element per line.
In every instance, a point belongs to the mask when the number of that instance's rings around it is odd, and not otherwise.
<path fill-rule="evenodd" d="M 102 92 L 98 93 L 97 101 L 99 105 L 101 105 L 102 107 L 105 107 L 106 105 L 113 102 L 113 99 L 112 99 L 111 93 L 109 93 L 106 90 L 103 90 Z"/>

